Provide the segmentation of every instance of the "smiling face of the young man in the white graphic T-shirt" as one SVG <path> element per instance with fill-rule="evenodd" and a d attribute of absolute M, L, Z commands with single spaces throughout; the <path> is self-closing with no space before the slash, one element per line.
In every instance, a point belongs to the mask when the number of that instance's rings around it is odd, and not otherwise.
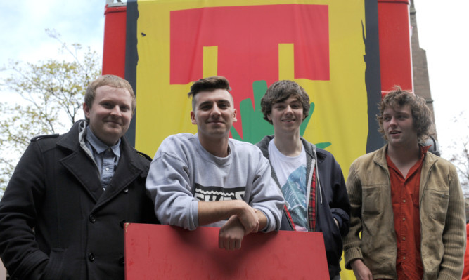
<path fill-rule="evenodd" d="M 290 96 L 283 102 L 274 103 L 267 118 L 274 124 L 276 134 L 300 133 L 300 125 L 304 119 L 302 104 L 298 98 Z"/>

